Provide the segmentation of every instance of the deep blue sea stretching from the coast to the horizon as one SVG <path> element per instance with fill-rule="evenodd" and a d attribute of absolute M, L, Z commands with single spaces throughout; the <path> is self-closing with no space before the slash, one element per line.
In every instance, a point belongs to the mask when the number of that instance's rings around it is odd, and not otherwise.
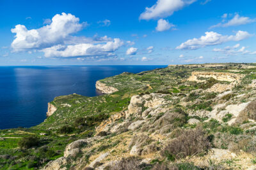
<path fill-rule="evenodd" d="M 56 96 L 97 96 L 95 82 L 123 73 L 166 66 L 6 66 L 0 67 L 0 129 L 44 122 Z"/>

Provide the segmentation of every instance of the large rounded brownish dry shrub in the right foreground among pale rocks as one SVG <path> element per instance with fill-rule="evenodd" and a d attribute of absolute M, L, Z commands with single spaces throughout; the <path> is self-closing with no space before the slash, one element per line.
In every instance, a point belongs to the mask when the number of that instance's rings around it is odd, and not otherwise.
<path fill-rule="evenodd" d="M 180 159 L 189 155 L 204 153 L 211 146 L 205 132 L 201 129 L 184 131 L 178 138 L 172 139 L 161 151 L 161 156 Z"/>

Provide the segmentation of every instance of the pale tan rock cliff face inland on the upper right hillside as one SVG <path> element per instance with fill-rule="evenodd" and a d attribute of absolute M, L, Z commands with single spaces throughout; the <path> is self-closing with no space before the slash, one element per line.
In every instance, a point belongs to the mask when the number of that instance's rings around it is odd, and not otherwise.
<path fill-rule="evenodd" d="M 189 81 L 204 81 L 198 78 L 214 78 L 219 81 L 240 81 L 244 75 L 234 73 L 221 73 L 221 72 L 192 72 Z"/>

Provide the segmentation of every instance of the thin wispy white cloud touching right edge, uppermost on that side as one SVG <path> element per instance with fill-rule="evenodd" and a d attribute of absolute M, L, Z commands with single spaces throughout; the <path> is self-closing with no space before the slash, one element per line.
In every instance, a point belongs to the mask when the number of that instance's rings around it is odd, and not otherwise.
<path fill-rule="evenodd" d="M 222 18 L 227 18 L 227 13 L 225 13 Z M 256 22 L 256 19 L 250 19 L 249 17 L 241 17 L 238 14 L 234 16 L 231 20 L 228 20 L 225 22 L 223 20 L 223 23 L 219 23 L 217 25 L 213 25 L 211 28 L 214 27 L 230 27 L 230 26 L 238 26 L 238 25 L 245 25 L 245 24 L 250 24 L 252 22 Z"/>

